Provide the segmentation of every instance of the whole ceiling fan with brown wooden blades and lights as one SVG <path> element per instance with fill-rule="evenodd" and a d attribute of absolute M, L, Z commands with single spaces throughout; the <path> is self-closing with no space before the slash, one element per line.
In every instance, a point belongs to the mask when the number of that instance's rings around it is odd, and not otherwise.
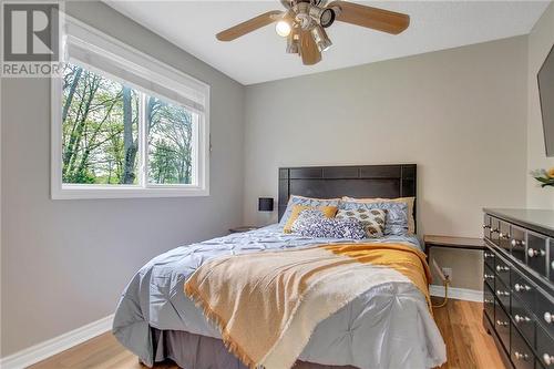
<path fill-rule="evenodd" d="M 305 65 L 321 61 L 321 52 L 332 42 L 325 31 L 336 20 L 398 34 L 410 24 L 410 16 L 348 1 L 280 0 L 286 10 L 271 10 L 216 34 L 219 41 L 233 41 L 276 22 L 275 31 L 287 38 L 287 52 L 301 57 Z"/>

